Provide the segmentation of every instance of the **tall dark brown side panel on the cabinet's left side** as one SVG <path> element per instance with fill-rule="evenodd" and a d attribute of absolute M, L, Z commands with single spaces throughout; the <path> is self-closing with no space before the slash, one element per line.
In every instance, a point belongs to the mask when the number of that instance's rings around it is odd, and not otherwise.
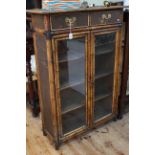
<path fill-rule="evenodd" d="M 38 68 L 40 72 L 41 94 L 44 111 L 44 127 L 50 134 L 53 133 L 51 101 L 50 101 L 50 84 L 48 75 L 46 38 L 36 33 L 36 45 L 38 50 Z"/>

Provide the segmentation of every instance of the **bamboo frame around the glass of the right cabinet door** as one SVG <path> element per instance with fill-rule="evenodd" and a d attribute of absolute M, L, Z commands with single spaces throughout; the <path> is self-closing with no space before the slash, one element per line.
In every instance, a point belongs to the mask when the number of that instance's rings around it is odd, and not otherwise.
<path fill-rule="evenodd" d="M 113 79 L 113 93 L 112 93 L 112 113 L 103 116 L 101 119 L 94 121 L 94 92 L 95 92 L 95 36 L 116 32 L 115 37 L 115 56 L 114 56 L 114 79 Z M 120 90 L 120 56 L 121 56 L 121 33 L 122 30 L 119 27 L 116 28 L 104 28 L 91 31 L 91 127 L 104 124 L 112 118 L 117 117 L 118 113 L 118 96 Z"/>

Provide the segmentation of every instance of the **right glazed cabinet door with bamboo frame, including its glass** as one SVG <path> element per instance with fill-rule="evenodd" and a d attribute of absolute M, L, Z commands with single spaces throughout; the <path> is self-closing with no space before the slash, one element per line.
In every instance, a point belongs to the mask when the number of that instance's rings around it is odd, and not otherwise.
<path fill-rule="evenodd" d="M 120 32 L 92 33 L 93 122 L 103 123 L 117 113 Z"/>

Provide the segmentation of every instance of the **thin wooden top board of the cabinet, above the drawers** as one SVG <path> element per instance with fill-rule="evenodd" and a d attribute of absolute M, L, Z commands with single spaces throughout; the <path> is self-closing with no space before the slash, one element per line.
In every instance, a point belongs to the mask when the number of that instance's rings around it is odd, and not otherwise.
<path fill-rule="evenodd" d="M 69 12 L 91 12 L 91 11 L 99 11 L 99 10 L 115 10 L 115 9 L 123 9 L 123 6 L 111 6 L 111 7 L 104 7 L 104 6 L 96 6 L 96 7 L 89 7 L 89 8 L 79 8 L 79 9 L 72 9 L 72 10 L 64 10 L 64 11 L 50 11 L 44 9 L 31 9 L 26 10 L 27 13 L 30 14 L 55 14 L 55 13 L 69 13 Z"/>

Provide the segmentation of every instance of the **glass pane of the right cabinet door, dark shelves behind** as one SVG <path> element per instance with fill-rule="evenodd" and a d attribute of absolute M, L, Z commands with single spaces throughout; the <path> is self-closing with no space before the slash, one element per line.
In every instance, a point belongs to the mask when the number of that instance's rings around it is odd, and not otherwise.
<path fill-rule="evenodd" d="M 115 33 L 95 38 L 95 104 L 94 120 L 112 113 L 115 56 Z"/>

